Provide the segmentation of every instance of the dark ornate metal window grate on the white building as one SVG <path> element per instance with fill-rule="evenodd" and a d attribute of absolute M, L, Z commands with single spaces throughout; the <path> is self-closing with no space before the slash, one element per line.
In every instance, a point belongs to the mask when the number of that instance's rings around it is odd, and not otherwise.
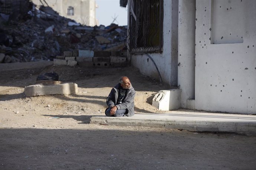
<path fill-rule="evenodd" d="M 163 0 L 130 0 L 129 8 L 129 52 L 162 52 Z"/>

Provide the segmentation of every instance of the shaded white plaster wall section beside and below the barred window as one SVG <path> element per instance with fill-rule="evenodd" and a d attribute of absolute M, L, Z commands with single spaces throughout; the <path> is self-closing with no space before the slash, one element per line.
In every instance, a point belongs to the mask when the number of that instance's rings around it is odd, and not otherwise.
<path fill-rule="evenodd" d="M 174 0 L 173 3 L 171 0 L 164 0 L 163 4 L 163 53 L 151 53 L 149 55 L 155 61 L 163 82 L 177 86 L 177 38 L 172 40 L 172 38 L 177 37 L 177 19 L 174 22 L 176 23 L 175 26 L 172 28 L 172 12 L 176 12 L 176 16 L 178 15 L 178 1 Z M 174 11 L 172 11 L 172 5 L 177 6 L 173 8 Z M 139 68 L 142 74 L 155 78 L 158 81 L 160 80 L 157 69 L 146 55 L 131 55 L 131 64 Z"/>

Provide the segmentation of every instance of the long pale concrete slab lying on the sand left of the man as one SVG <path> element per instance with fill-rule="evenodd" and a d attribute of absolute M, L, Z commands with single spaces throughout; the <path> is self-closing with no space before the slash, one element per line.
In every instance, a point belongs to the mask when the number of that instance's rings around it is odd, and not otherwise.
<path fill-rule="evenodd" d="M 40 95 L 70 95 L 78 92 L 78 85 L 75 83 L 64 83 L 58 85 L 30 85 L 26 86 L 26 96 Z"/>

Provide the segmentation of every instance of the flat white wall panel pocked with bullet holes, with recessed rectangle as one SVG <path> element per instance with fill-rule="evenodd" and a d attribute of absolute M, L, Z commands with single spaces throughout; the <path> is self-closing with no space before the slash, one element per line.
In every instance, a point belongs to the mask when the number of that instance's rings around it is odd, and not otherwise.
<path fill-rule="evenodd" d="M 196 1 L 195 108 L 256 113 L 256 1 Z"/>

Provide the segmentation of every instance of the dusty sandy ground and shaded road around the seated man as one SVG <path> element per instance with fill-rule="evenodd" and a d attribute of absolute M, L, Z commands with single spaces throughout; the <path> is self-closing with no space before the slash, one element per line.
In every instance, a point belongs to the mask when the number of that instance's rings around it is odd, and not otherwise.
<path fill-rule="evenodd" d="M 89 124 L 104 116 L 106 96 L 122 75 L 137 91 L 135 112 L 162 113 L 152 98 L 169 87 L 135 68 L 21 66 L 0 65 L 0 169 L 256 167 L 254 136 Z M 78 84 L 78 94 L 26 97 L 24 87 L 50 71 Z"/>

